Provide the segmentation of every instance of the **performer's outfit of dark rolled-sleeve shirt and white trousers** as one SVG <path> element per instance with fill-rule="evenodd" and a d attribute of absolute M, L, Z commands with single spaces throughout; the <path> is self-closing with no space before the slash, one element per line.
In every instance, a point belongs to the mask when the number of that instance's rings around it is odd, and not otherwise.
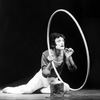
<path fill-rule="evenodd" d="M 34 91 L 41 89 L 42 93 L 50 93 L 50 83 L 59 83 L 57 75 L 55 74 L 53 68 L 51 67 L 50 71 L 51 74 L 49 76 L 45 76 L 42 73 L 42 70 L 46 68 L 46 66 L 50 63 L 47 59 L 49 53 L 48 51 L 43 52 L 42 58 L 41 58 L 41 69 L 35 74 L 35 76 L 24 85 L 16 86 L 16 87 L 6 87 L 2 91 L 4 93 L 17 93 L 17 94 L 23 94 L 23 93 L 33 93 Z M 72 55 L 72 53 L 71 53 Z M 70 56 L 71 56 L 70 55 Z M 70 58 L 70 57 L 69 57 Z M 65 59 L 66 64 L 68 65 L 68 69 L 70 69 L 70 66 L 74 66 L 72 57 L 71 59 Z M 64 60 L 64 59 L 63 59 Z M 72 60 L 72 61 L 70 61 Z M 54 63 L 56 66 L 56 69 L 58 73 L 60 74 L 63 69 L 63 62 L 61 63 Z M 50 65 L 52 66 L 52 64 Z M 74 69 L 76 66 L 73 67 Z M 71 67 L 72 69 L 72 67 Z M 64 83 L 64 91 L 69 91 L 69 85 L 67 83 Z"/>

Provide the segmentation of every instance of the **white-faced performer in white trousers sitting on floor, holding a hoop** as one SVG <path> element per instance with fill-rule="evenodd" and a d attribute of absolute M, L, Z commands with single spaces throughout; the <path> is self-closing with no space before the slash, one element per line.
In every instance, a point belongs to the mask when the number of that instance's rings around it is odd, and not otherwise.
<path fill-rule="evenodd" d="M 48 50 L 42 53 L 41 57 L 41 69 L 35 74 L 35 76 L 27 83 L 16 87 L 6 87 L 2 91 L 4 93 L 33 93 L 34 91 L 41 89 L 42 93 L 50 93 L 50 84 L 59 83 L 59 79 L 53 69 L 52 63 L 54 63 L 59 75 L 63 70 L 64 63 L 70 71 L 77 70 L 72 54 L 72 48 L 65 48 L 65 37 L 60 33 L 52 33 L 50 35 L 50 55 Z M 64 91 L 69 91 L 70 86 L 64 82 Z"/>

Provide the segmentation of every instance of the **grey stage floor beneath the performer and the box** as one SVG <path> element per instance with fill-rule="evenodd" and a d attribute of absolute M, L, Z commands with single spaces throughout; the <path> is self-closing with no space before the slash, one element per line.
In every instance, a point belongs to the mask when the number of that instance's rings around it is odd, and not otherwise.
<path fill-rule="evenodd" d="M 64 98 L 50 98 L 50 94 L 5 94 L 0 92 L 0 100 L 100 100 L 100 90 L 79 90 L 65 93 Z"/>

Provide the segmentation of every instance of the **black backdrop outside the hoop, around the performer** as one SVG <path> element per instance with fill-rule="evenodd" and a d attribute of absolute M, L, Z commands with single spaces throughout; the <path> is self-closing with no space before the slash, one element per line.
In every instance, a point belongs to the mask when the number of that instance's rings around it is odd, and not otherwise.
<path fill-rule="evenodd" d="M 88 43 L 91 66 L 84 88 L 100 88 L 99 4 L 99 0 L 0 0 L 0 86 L 19 80 L 23 84 L 40 69 L 48 20 L 63 8 L 77 19 Z"/>

